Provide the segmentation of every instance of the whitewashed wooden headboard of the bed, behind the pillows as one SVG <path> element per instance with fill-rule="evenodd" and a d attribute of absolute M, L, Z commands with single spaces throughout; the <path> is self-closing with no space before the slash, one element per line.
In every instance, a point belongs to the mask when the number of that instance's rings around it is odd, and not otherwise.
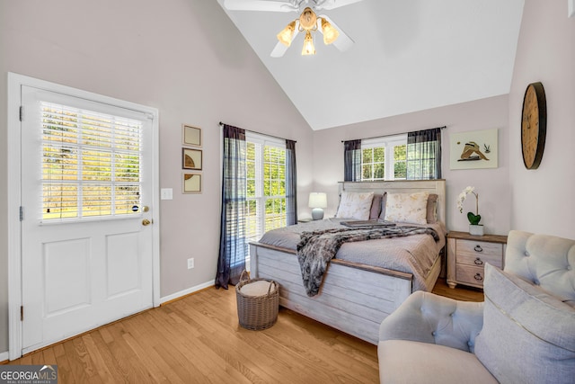
<path fill-rule="evenodd" d="M 341 191 L 348 192 L 376 192 L 376 193 L 413 193 L 429 192 L 438 195 L 437 216 L 438 220 L 446 222 L 446 181 L 439 180 L 398 180 L 381 182 L 341 182 Z"/>

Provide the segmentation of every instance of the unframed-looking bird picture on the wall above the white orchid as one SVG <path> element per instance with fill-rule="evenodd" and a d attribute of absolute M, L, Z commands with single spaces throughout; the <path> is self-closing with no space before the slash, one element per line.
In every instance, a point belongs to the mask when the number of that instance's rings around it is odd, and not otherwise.
<path fill-rule="evenodd" d="M 472 130 L 449 135 L 451 169 L 497 168 L 497 129 Z"/>

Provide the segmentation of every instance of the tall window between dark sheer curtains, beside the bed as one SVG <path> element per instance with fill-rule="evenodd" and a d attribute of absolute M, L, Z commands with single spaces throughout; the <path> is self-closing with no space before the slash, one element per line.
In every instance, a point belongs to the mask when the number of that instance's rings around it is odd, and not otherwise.
<path fill-rule="evenodd" d="M 288 225 L 286 212 L 286 143 L 246 132 L 248 242 Z"/>

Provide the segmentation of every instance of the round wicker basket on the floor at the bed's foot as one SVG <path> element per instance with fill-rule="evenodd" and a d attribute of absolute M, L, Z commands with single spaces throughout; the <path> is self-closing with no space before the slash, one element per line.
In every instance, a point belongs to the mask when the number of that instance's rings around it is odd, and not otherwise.
<path fill-rule="evenodd" d="M 276 324 L 278 320 L 279 310 L 279 284 L 276 281 L 267 279 L 243 279 L 243 271 L 240 276 L 240 282 L 235 285 L 235 298 L 237 299 L 237 317 L 240 321 L 240 326 L 246 329 L 259 331 L 261 329 L 269 328 Z M 269 285 L 264 286 L 263 293 L 254 296 L 249 292 L 249 284 L 257 283 L 258 286 L 262 285 L 261 282 L 269 282 Z M 265 292 L 267 288 L 267 293 Z M 247 294 L 246 294 L 247 293 Z"/>

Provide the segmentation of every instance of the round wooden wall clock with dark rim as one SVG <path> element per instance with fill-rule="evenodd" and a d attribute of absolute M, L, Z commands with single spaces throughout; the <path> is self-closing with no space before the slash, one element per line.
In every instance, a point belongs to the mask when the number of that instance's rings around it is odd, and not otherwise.
<path fill-rule="evenodd" d="M 527 85 L 523 97 L 521 121 L 521 149 L 523 163 L 527 169 L 536 169 L 541 164 L 547 131 L 547 102 L 543 84 Z"/>

